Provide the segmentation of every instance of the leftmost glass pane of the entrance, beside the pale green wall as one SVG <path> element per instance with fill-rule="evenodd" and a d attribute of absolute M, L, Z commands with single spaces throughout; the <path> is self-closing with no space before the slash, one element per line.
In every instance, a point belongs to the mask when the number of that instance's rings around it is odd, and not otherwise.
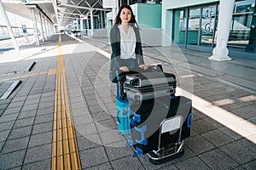
<path fill-rule="evenodd" d="M 187 10 L 179 9 L 173 15 L 173 35 L 172 40 L 176 43 L 185 43 L 187 25 Z"/>

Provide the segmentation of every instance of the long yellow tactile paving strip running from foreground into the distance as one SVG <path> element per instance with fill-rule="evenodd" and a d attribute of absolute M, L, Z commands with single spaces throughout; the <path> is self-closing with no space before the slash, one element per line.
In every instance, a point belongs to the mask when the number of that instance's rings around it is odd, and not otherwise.
<path fill-rule="evenodd" d="M 81 169 L 59 37 L 51 169 Z"/>

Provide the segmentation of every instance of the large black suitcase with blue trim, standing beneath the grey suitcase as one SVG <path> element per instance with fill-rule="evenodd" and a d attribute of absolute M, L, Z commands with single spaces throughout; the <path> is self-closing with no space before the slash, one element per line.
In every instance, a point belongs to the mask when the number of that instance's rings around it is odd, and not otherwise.
<path fill-rule="evenodd" d="M 192 102 L 183 96 L 172 96 L 168 108 L 164 104 L 155 103 L 152 111 L 143 112 L 142 107 L 138 108 L 131 120 L 131 145 L 136 150 L 135 154 L 143 155 L 152 150 L 158 150 L 159 146 L 167 148 L 177 144 L 177 142 L 189 138 L 192 122 L 191 107 Z M 131 111 L 132 111 L 131 107 Z M 148 110 L 148 109 L 147 109 Z M 174 116 L 183 117 L 181 129 L 177 129 L 174 133 L 161 133 L 161 123 Z M 180 135 L 179 135 L 180 134 Z M 159 139 L 161 144 L 159 144 Z M 139 152 L 139 153 L 138 153 Z"/>

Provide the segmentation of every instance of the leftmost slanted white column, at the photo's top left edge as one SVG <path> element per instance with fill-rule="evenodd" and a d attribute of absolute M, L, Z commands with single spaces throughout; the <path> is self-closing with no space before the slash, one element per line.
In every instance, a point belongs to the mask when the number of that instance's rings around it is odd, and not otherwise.
<path fill-rule="evenodd" d="M 2 4 L 2 1 L 0 1 L 0 13 L 3 17 L 3 20 L 5 21 L 6 23 L 6 26 L 7 26 L 7 30 L 9 32 L 9 36 L 11 37 L 12 39 L 12 42 L 14 44 L 14 47 L 15 47 L 15 50 L 18 51 L 20 48 L 18 46 L 18 43 L 16 42 L 16 39 L 15 39 L 15 34 L 12 30 L 12 27 L 10 26 L 10 23 L 9 23 L 9 19 L 7 17 L 7 14 L 5 12 L 5 9 L 3 8 L 3 4 Z"/>

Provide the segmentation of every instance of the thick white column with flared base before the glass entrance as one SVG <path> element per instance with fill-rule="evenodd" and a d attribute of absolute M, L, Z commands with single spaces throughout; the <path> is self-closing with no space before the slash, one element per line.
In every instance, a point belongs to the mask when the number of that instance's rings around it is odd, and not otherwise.
<path fill-rule="evenodd" d="M 212 56 L 209 59 L 224 61 L 230 60 L 228 56 L 229 50 L 227 48 L 230 36 L 230 24 L 232 20 L 233 8 L 235 0 L 220 0 L 218 12 L 218 30 L 217 30 L 217 44 L 213 48 Z"/>

